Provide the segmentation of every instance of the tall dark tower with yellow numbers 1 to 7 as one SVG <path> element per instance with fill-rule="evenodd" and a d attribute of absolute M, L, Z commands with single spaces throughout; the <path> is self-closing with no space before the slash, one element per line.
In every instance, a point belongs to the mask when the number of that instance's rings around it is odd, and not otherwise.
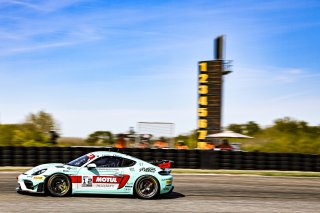
<path fill-rule="evenodd" d="M 205 149 L 207 135 L 221 131 L 223 75 L 231 62 L 224 60 L 224 37 L 215 39 L 215 60 L 199 61 L 198 148 Z"/>

